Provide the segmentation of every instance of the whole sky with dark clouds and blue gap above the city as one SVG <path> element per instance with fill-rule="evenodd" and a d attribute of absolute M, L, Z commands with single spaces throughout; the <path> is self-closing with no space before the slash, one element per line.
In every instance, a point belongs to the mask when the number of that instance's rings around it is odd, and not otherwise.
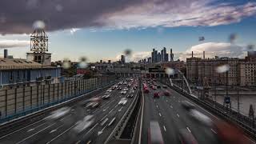
<path fill-rule="evenodd" d="M 2 0 L 0 49 L 26 58 L 38 22 L 53 61 L 116 61 L 131 50 L 136 62 L 164 46 L 181 60 L 192 50 L 242 58 L 256 45 L 255 0 Z"/>

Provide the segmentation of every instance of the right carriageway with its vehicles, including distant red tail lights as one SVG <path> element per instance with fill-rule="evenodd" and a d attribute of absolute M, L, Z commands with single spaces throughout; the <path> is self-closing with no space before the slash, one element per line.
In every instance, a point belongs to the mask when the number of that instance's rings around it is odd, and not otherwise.
<path fill-rule="evenodd" d="M 140 143 L 222 142 L 214 126 L 219 118 L 161 83 L 148 80 L 143 85 L 146 89 Z M 246 138 L 246 143 L 254 142 Z"/>

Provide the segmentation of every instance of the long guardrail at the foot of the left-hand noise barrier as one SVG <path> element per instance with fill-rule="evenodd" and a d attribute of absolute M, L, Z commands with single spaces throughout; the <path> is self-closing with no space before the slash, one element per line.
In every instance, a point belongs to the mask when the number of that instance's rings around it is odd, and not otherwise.
<path fill-rule="evenodd" d="M 11 122 L 6 122 L 0 126 L 0 137 L 4 134 L 10 134 L 12 131 L 17 130 L 19 127 L 26 126 L 27 123 L 30 122 L 31 120 L 39 120 L 39 119 L 43 118 L 46 114 L 49 114 L 50 111 L 57 110 L 58 108 L 60 108 L 62 106 L 68 106 L 73 102 L 78 102 L 82 98 L 90 97 L 96 92 L 100 93 L 102 90 L 106 90 L 107 88 L 114 85 L 115 83 L 116 83 L 116 81 L 111 82 L 110 84 L 107 84 L 106 86 L 101 86 L 94 90 L 90 90 L 90 92 L 88 92 L 86 94 L 80 94 L 80 96 L 78 96 L 76 98 L 72 98 L 69 101 L 62 102 L 57 105 L 47 107 L 43 110 L 38 110 L 37 112 L 28 114 L 24 117 L 14 119 Z"/>

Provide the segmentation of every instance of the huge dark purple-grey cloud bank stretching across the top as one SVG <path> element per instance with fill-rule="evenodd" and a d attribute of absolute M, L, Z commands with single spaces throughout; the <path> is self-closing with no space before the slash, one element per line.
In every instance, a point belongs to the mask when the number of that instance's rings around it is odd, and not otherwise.
<path fill-rule="evenodd" d="M 0 34 L 33 31 L 42 20 L 46 30 L 76 28 L 143 29 L 146 27 L 218 26 L 256 14 L 256 2 L 216 0 L 2 0 Z"/>

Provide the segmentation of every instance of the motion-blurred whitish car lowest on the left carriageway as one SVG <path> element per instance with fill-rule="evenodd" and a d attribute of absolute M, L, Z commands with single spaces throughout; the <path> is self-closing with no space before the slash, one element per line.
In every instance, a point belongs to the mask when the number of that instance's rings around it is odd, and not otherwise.
<path fill-rule="evenodd" d="M 75 126 L 72 130 L 75 133 L 80 134 L 82 131 L 87 130 L 93 124 L 94 124 L 94 116 L 86 115 L 85 118 L 75 123 Z"/>

